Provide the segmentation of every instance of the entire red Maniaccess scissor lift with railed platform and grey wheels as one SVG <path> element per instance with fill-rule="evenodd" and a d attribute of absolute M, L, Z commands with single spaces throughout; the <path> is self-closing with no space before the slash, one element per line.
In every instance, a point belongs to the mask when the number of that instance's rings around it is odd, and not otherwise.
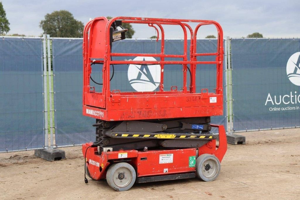
<path fill-rule="evenodd" d="M 161 52 L 112 53 L 114 39 L 124 39 L 121 32 L 126 29 L 122 27 L 122 23 L 154 27 L 158 38 L 159 32 L 161 35 Z M 197 24 L 194 31 L 188 23 Z M 183 55 L 164 53 L 163 25 L 182 28 Z M 196 35 L 203 25 L 214 25 L 217 29 L 216 52 L 196 52 Z M 119 26 L 119 29 L 116 26 Z M 189 58 L 187 31 L 190 33 Z M 157 61 L 116 60 L 116 56 L 149 56 L 155 57 Z M 197 61 L 199 56 L 215 56 L 216 59 Z M 83 58 L 82 111 L 83 115 L 96 119 L 93 125 L 96 127 L 96 141 L 82 145 L 86 174 L 91 179 L 106 178 L 113 189 L 125 191 L 135 182 L 196 176 L 204 181 L 217 178 L 220 162 L 227 150 L 223 125 L 210 124 L 211 116 L 223 114 L 223 32 L 217 22 L 141 17 L 115 17 L 107 20 L 106 17 L 98 17 L 88 22 L 84 28 Z M 167 61 L 165 58 L 173 60 Z M 102 91 L 95 91 L 95 87 L 90 86 L 93 64 L 102 67 Z M 118 64 L 160 65 L 159 91 L 111 91 L 110 66 Z M 166 90 L 164 65 L 172 64 L 182 65 L 183 87 L 177 89 L 177 86 L 172 86 Z M 215 93 L 209 93 L 205 88 L 196 91 L 196 67 L 199 64 L 216 65 Z M 217 127 L 219 135 L 211 134 L 211 127 Z M 86 178 L 85 182 L 87 183 Z"/>

